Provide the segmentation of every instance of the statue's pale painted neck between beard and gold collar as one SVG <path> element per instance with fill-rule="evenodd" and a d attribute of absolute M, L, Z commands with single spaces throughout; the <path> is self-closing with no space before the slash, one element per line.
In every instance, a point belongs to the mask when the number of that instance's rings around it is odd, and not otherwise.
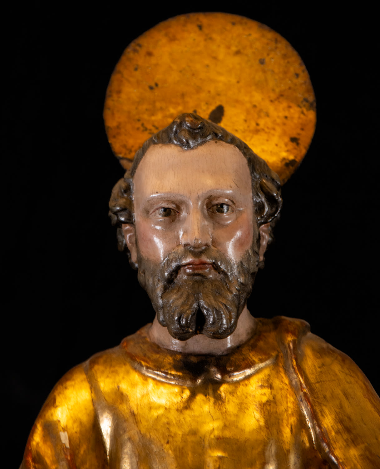
<path fill-rule="evenodd" d="M 149 329 L 149 339 L 162 348 L 176 352 L 193 355 L 223 355 L 250 339 L 255 327 L 255 319 L 245 306 L 235 331 L 225 339 L 210 339 L 203 334 L 198 334 L 188 340 L 177 340 L 171 337 L 167 328 L 158 322 L 156 316 Z"/>

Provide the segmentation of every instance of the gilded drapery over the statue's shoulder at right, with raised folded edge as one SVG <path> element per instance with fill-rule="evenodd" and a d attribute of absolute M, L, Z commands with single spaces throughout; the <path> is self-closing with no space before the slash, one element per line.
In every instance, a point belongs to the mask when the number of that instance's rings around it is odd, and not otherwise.
<path fill-rule="evenodd" d="M 337 467 L 380 467 L 380 399 L 349 356 L 301 319 L 259 319 L 276 336 L 284 367 L 320 451 Z"/>

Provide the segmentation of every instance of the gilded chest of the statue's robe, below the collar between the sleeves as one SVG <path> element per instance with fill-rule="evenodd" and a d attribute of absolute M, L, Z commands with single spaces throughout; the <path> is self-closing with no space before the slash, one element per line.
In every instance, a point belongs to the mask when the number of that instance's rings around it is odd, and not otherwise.
<path fill-rule="evenodd" d="M 324 467 L 287 378 L 274 378 L 273 367 L 188 387 L 136 372 L 123 387 L 111 406 L 111 467 Z"/>

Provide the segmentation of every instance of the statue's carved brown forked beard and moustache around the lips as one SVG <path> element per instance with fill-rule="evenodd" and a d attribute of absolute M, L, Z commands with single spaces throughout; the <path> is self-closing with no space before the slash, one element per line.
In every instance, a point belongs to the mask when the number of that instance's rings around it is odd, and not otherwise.
<path fill-rule="evenodd" d="M 189 258 L 213 262 L 212 277 L 200 274 L 179 276 Z M 251 294 L 259 265 L 257 244 L 253 242 L 237 265 L 214 247 L 201 251 L 178 246 L 156 265 L 138 250 L 138 279 L 147 291 L 158 322 L 174 339 L 187 340 L 197 333 L 225 339 L 234 332 L 238 318 Z"/>

